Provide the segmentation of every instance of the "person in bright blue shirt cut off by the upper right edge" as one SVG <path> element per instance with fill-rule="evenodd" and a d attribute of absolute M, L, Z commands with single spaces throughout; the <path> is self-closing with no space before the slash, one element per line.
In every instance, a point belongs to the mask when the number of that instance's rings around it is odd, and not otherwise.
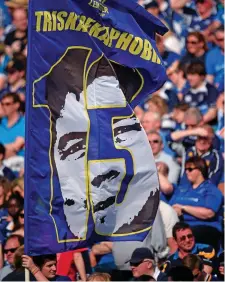
<path fill-rule="evenodd" d="M 206 56 L 207 80 L 224 91 L 224 27 L 220 26 L 215 31 L 216 47 L 210 50 Z"/>

